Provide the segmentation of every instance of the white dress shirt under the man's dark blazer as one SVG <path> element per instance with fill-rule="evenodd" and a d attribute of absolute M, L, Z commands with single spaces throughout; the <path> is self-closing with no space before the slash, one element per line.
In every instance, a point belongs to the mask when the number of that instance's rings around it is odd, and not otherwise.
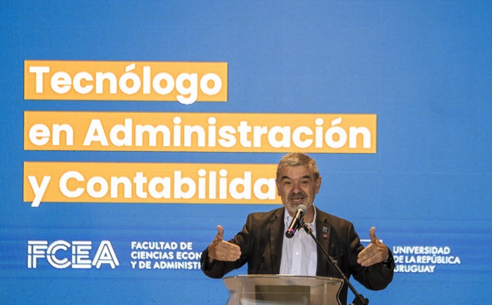
<path fill-rule="evenodd" d="M 292 216 L 290 216 L 287 209 L 285 209 L 284 233 L 289 228 L 292 222 Z M 313 235 L 316 237 L 316 209 L 314 209 L 313 223 L 307 223 L 307 225 L 313 229 Z M 282 259 L 280 261 L 280 274 L 285 275 L 316 275 L 316 267 L 318 264 L 318 252 L 316 249 L 316 242 L 313 238 L 304 231 L 304 228 L 296 231 L 294 237 L 287 238 L 283 235 L 282 244 Z"/>

